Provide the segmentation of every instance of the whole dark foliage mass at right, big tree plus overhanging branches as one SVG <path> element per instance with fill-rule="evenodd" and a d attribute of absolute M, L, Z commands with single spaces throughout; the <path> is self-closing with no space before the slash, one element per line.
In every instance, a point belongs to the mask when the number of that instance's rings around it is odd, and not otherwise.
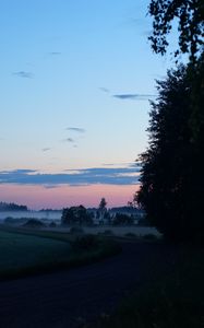
<path fill-rule="evenodd" d="M 176 67 L 157 81 L 151 103 L 148 148 L 140 155 L 141 188 L 134 200 L 166 238 L 204 241 L 204 1 L 152 0 L 155 52 L 164 55 L 173 19 L 179 43 Z M 189 54 L 187 65 L 179 54 Z"/>

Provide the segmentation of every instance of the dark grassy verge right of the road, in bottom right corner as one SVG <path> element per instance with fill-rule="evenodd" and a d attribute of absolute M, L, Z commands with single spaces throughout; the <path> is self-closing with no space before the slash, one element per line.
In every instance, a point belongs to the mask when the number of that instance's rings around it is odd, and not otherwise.
<path fill-rule="evenodd" d="M 148 282 L 95 328 L 203 328 L 204 248 L 182 247 L 167 272 L 151 261 Z"/>

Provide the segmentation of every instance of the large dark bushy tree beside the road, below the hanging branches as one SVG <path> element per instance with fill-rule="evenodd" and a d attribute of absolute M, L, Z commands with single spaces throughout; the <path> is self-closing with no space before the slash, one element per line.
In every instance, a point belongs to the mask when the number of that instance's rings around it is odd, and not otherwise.
<path fill-rule="evenodd" d="M 158 98 L 152 103 L 149 147 L 141 155 L 141 189 L 136 201 L 164 235 L 177 241 L 204 239 L 203 130 L 195 138 L 192 120 L 195 103 L 203 113 L 204 60 L 196 75 L 180 66 L 157 82 Z M 197 81 L 202 82 L 199 86 Z M 203 117 L 203 116 L 202 116 Z"/>

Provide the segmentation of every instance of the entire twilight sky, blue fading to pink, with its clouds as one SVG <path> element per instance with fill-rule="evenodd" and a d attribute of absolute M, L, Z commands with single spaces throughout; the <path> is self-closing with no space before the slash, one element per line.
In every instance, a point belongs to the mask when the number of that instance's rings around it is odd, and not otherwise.
<path fill-rule="evenodd" d="M 0 1 L 0 201 L 125 206 L 140 186 L 154 55 L 147 0 Z"/>

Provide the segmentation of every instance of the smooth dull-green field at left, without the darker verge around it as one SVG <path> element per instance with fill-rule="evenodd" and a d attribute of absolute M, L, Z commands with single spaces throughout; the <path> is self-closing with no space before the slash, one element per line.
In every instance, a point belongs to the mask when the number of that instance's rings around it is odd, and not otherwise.
<path fill-rule="evenodd" d="M 63 261 L 71 247 L 64 242 L 0 231 L 0 249 L 2 277 L 10 271 Z"/>

